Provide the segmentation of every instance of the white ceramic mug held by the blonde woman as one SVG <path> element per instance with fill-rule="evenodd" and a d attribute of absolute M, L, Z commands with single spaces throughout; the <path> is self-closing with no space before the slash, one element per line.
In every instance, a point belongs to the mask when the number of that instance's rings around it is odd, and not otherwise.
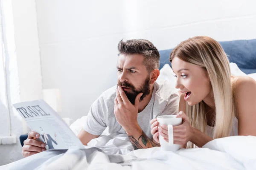
<path fill-rule="evenodd" d="M 162 150 L 168 151 L 176 151 L 180 149 L 180 144 L 173 143 L 173 126 L 181 125 L 182 118 L 176 118 L 177 115 L 164 115 L 164 116 L 157 116 L 157 122 L 160 125 L 167 125 L 168 126 L 168 136 L 169 142 L 166 142 L 163 139 L 163 136 L 159 134 L 159 142 L 161 145 Z"/>

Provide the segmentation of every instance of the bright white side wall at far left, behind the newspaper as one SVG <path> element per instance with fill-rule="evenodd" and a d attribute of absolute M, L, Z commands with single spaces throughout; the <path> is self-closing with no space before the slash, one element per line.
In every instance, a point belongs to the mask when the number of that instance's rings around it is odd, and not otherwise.
<path fill-rule="evenodd" d="M 23 158 L 19 136 L 27 133 L 12 104 L 41 99 L 42 77 L 35 1 L 1 0 L 0 5 L 3 29 L 0 65 L 2 57 L 6 65 L 6 78 L 0 68 L 0 136 L 17 138 L 16 144 L 0 145 L 0 165 L 3 165 Z"/>

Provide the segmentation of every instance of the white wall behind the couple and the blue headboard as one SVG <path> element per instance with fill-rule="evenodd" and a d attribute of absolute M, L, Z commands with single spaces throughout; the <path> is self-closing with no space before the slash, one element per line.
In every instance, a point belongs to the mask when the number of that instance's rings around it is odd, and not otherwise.
<path fill-rule="evenodd" d="M 116 84 L 117 44 L 151 40 L 159 50 L 195 35 L 256 38 L 254 0 L 36 0 L 44 88 L 59 88 L 62 115 L 87 115 Z"/>

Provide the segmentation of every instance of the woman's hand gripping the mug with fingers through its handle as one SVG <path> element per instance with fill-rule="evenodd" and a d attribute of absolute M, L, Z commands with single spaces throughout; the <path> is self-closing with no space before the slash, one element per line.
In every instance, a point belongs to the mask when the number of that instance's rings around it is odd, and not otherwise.
<path fill-rule="evenodd" d="M 184 146 L 187 142 L 191 140 L 191 137 L 194 133 L 194 128 L 191 126 L 188 116 L 186 116 L 186 114 L 183 111 L 180 111 L 180 113 L 177 115 L 177 118 L 178 117 L 182 118 L 182 124 L 173 127 L 173 143 Z M 167 125 L 160 125 L 160 127 L 158 128 L 158 133 L 161 136 L 163 136 L 166 142 L 169 142 Z"/>

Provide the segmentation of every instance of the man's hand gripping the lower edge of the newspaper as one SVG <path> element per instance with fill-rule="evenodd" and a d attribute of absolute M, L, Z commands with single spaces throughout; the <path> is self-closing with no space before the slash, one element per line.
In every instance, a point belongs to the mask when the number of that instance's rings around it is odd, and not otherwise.
<path fill-rule="evenodd" d="M 44 148 L 45 143 L 36 140 L 39 138 L 39 136 L 40 136 L 40 134 L 38 134 L 34 131 L 29 132 L 28 139 L 26 139 L 24 141 L 24 145 L 22 147 L 22 155 L 24 157 L 31 156 L 31 155 L 34 155 L 36 153 L 46 150 Z"/>

